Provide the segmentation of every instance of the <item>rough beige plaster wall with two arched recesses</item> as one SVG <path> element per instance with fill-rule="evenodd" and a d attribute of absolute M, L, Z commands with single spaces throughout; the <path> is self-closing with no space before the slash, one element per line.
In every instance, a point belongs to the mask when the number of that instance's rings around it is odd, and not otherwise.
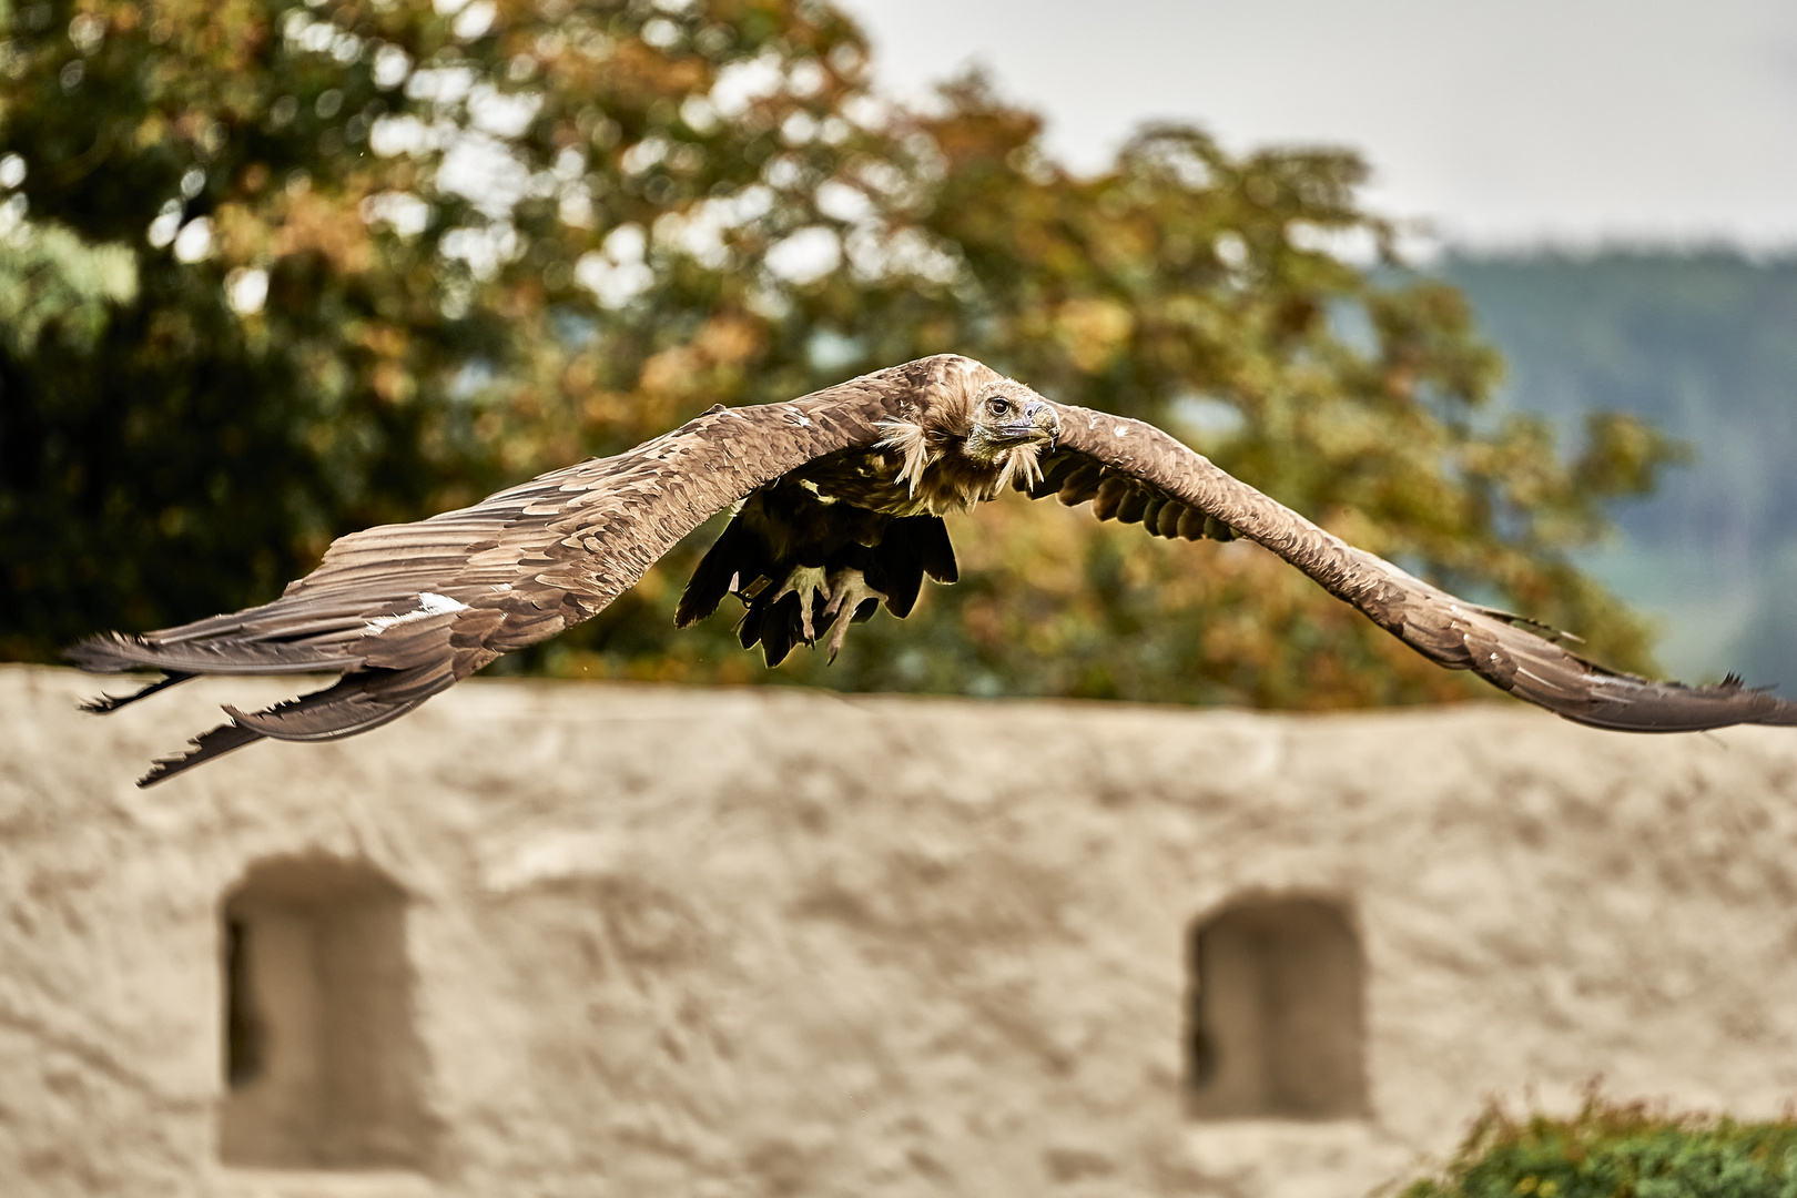
<path fill-rule="evenodd" d="M 1790 731 L 474 683 L 140 792 L 286 690 L 93 690 L 0 670 L 7 1194 L 1326 1198 L 1526 1085 L 1797 1094 Z M 307 851 L 412 896 L 428 1184 L 216 1164 L 217 900 Z M 1251 891 L 1351 903 L 1369 1119 L 1186 1114 Z"/>

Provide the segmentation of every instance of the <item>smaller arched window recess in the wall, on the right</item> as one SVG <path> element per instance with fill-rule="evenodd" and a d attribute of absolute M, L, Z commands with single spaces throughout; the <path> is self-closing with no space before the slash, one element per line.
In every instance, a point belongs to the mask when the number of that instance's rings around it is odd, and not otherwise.
<path fill-rule="evenodd" d="M 1260 898 L 1191 939 L 1191 1114 L 1366 1114 L 1362 954 L 1341 903 Z"/>

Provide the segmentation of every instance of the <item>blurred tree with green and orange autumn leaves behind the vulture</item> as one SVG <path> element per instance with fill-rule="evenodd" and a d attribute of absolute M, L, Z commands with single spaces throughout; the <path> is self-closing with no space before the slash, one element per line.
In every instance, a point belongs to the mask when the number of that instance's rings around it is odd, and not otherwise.
<path fill-rule="evenodd" d="M 979 77 L 929 111 L 875 99 L 861 34 L 816 0 L 83 0 L 4 22 L 0 277 L 63 239 L 68 278 L 0 339 L 5 656 L 264 600 L 352 528 L 958 350 L 1644 663 L 1641 625 L 1565 555 L 1668 444 L 1601 417 L 1563 458 L 1542 420 L 1483 417 L 1499 366 L 1457 293 L 1353 264 L 1396 260 L 1351 154 L 1236 158 L 1163 128 L 1076 178 Z M 1253 546 L 1022 501 L 972 523 L 963 584 L 828 674 L 810 654 L 776 674 L 1468 693 Z M 699 548 L 512 668 L 771 677 L 728 618 L 674 636 Z"/>

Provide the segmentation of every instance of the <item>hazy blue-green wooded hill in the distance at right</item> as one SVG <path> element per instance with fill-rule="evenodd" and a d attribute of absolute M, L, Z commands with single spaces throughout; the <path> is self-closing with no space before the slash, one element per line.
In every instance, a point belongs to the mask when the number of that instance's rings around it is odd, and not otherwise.
<path fill-rule="evenodd" d="M 1666 668 L 1797 691 L 1797 257 L 1461 251 L 1436 271 L 1504 352 L 1506 404 L 1574 436 L 1590 408 L 1637 411 L 1696 451 L 1583 562 L 1664 620 Z"/>

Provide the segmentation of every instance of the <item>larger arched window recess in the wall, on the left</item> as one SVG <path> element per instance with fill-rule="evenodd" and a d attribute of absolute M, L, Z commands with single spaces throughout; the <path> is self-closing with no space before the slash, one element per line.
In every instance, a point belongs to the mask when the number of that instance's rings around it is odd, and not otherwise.
<path fill-rule="evenodd" d="M 404 894 L 334 859 L 275 859 L 225 900 L 225 1164 L 415 1167 L 428 1121 Z"/>

